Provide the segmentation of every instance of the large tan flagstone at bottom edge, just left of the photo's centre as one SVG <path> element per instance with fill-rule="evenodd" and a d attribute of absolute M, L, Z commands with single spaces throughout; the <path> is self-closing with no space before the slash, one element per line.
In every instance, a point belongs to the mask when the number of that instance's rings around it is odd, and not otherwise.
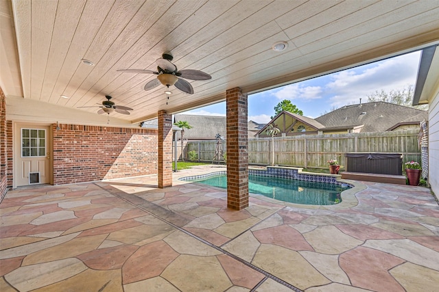
<path fill-rule="evenodd" d="M 182 254 L 161 276 L 181 291 L 226 291 L 233 286 L 216 256 Z"/>

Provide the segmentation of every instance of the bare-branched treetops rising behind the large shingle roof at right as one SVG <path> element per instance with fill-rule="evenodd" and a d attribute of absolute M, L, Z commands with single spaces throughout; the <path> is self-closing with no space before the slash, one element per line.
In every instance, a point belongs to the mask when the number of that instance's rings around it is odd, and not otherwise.
<path fill-rule="evenodd" d="M 369 94 L 368 102 L 384 101 L 386 103 L 394 103 L 395 105 L 404 105 L 405 107 L 414 107 L 415 109 L 427 109 L 425 105 L 412 105 L 414 89 L 412 85 L 408 85 L 402 90 L 390 90 L 385 92 L 384 90 L 376 90 L 374 93 Z"/>

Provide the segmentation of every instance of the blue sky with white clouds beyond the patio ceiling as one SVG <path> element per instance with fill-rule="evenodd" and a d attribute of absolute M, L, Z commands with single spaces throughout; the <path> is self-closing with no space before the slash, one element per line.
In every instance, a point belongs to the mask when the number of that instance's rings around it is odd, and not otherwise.
<path fill-rule="evenodd" d="M 285 85 L 248 96 L 248 120 L 270 122 L 274 107 L 289 99 L 304 116 L 317 118 L 325 111 L 348 104 L 367 102 L 375 91 L 402 90 L 414 85 L 420 52 L 347 69 L 322 77 Z M 226 116 L 226 103 L 200 107 L 182 114 Z"/>

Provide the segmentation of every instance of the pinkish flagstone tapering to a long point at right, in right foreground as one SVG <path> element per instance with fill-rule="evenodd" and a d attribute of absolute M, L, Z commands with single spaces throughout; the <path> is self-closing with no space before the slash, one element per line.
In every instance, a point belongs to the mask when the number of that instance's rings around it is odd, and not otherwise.
<path fill-rule="evenodd" d="M 387 230 L 380 228 L 375 228 L 373 226 L 367 226 L 363 224 L 352 224 L 352 225 L 335 225 L 338 229 L 342 230 L 343 233 L 351 235 L 361 241 L 366 239 L 404 239 L 405 237 L 392 233 Z"/>

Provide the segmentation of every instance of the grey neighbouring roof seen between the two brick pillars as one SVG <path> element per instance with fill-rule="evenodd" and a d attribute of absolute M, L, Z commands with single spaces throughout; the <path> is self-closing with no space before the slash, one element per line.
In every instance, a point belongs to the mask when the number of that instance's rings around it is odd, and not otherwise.
<path fill-rule="evenodd" d="M 184 138 L 188 140 L 215 140 L 215 135 L 226 137 L 225 116 L 197 116 L 176 114 L 174 122 L 187 122 L 191 129 L 185 129 Z M 177 133 L 177 139 L 180 133 Z"/>

